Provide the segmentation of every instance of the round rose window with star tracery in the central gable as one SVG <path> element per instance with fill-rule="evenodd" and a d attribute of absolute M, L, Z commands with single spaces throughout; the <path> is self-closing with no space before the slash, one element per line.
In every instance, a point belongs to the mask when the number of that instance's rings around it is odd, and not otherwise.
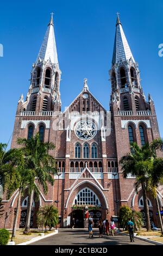
<path fill-rule="evenodd" d="M 97 127 L 91 120 L 80 120 L 75 127 L 76 135 L 83 141 L 88 141 L 95 137 L 97 133 Z"/>

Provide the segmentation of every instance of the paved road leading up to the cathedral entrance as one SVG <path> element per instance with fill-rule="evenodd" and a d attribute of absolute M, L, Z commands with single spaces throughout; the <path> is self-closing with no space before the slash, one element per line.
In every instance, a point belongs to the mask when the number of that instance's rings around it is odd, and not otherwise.
<path fill-rule="evenodd" d="M 30 245 L 152 245 L 152 243 L 135 239 L 130 242 L 129 236 L 117 234 L 116 236 L 103 235 L 99 238 L 98 230 L 93 231 L 90 239 L 86 229 L 59 229 L 59 234 L 31 243 Z"/>

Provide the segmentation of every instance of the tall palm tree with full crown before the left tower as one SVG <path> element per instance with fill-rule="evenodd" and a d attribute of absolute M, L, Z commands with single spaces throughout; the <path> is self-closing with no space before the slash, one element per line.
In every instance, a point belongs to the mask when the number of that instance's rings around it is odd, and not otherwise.
<path fill-rule="evenodd" d="M 24 233 L 28 233 L 30 230 L 30 215 L 35 190 L 34 179 L 37 177 L 38 184 L 42 186 L 43 192 L 46 194 L 48 191 L 47 182 L 51 185 L 54 184 L 52 175 L 57 172 L 57 168 L 54 157 L 48 154 L 48 150 L 54 149 L 54 144 L 51 142 L 41 142 L 38 133 L 34 138 L 30 139 L 18 138 L 17 143 L 22 145 L 26 168 L 33 174 L 29 188 L 27 222 L 24 230 Z"/>

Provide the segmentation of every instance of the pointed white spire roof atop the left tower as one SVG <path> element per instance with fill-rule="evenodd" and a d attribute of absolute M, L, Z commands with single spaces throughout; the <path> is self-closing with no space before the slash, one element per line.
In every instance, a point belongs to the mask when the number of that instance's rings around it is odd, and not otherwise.
<path fill-rule="evenodd" d="M 52 64 L 58 63 L 57 47 L 54 35 L 53 13 L 51 16 L 51 20 L 49 21 L 46 34 L 44 36 L 39 55 L 37 56 L 37 60 L 39 58 L 45 61 L 51 59 Z"/>

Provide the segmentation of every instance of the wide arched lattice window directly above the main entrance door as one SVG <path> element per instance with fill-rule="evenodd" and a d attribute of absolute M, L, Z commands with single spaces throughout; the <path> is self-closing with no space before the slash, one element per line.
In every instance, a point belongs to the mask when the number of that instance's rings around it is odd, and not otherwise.
<path fill-rule="evenodd" d="M 97 195 L 90 190 L 90 188 L 86 187 L 78 192 L 76 197 L 74 198 L 73 205 L 101 205 Z"/>

